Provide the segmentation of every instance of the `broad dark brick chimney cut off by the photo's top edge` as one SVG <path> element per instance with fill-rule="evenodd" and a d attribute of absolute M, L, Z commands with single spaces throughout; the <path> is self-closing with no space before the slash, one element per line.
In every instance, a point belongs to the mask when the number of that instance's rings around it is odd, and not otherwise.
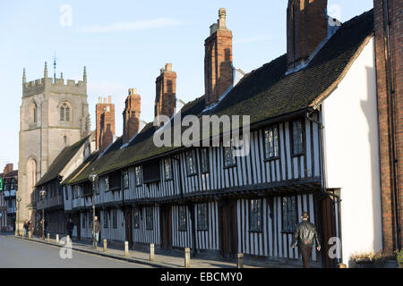
<path fill-rule="evenodd" d="M 327 0 L 288 0 L 288 71 L 305 63 L 328 37 Z"/>

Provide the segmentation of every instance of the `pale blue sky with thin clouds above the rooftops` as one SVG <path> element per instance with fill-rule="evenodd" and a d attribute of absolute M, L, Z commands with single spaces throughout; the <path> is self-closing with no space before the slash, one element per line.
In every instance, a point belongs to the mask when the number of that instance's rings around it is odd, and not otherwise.
<path fill-rule="evenodd" d="M 91 127 L 98 97 L 111 95 L 120 136 L 128 88 L 141 95 L 141 119 L 153 120 L 155 79 L 165 63 L 177 73 L 178 98 L 203 94 L 204 39 L 220 7 L 227 9 L 237 68 L 249 72 L 286 53 L 287 0 L 0 0 L 0 172 L 6 163 L 18 165 L 23 68 L 36 80 L 47 61 L 50 76 L 55 51 L 57 77 L 63 71 L 64 79 L 81 80 L 87 66 Z M 373 0 L 329 0 L 328 13 L 347 21 L 371 8 Z"/>

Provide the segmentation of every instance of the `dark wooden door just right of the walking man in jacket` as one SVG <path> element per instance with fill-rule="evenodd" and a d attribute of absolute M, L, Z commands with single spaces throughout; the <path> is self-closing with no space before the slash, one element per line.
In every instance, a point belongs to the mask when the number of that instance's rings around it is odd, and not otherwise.
<path fill-rule="evenodd" d="M 337 261 L 330 259 L 328 253 L 332 245 L 329 245 L 330 238 L 336 237 L 336 216 L 334 212 L 334 201 L 328 197 L 322 199 L 322 261 L 325 267 L 335 267 Z"/>

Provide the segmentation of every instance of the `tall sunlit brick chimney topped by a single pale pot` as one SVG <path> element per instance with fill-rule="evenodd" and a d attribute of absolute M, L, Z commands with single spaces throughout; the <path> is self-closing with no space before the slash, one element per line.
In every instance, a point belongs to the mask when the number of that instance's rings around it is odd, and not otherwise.
<path fill-rule="evenodd" d="M 210 26 L 204 42 L 204 86 L 206 106 L 219 101 L 234 83 L 232 66 L 232 31 L 227 29 L 226 9 L 219 9 L 219 21 Z"/>

